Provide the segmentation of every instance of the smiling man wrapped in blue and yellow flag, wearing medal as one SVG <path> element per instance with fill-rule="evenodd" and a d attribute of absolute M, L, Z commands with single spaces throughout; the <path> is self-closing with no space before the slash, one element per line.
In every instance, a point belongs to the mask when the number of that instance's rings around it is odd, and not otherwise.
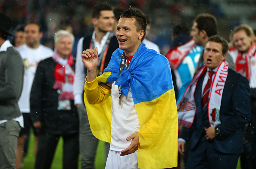
<path fill-rule="evenodd" d="M 95 137 L 110 142 L 106 169 L 177 166 L 178 115 L 168 60 L 141 41 L 145 14 L 127 9 L 117 25 L 119 49 L 96 77 L 97 48 L 82 54 L 84 102 Z"/>

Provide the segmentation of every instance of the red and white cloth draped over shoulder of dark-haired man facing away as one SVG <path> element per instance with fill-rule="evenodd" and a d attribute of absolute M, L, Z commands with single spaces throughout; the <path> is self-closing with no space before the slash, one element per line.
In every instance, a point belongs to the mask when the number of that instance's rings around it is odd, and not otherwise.
<path fill-rule="evenodd" d="M 165 54 L 165 57 L 169 60 L 170 66 L 173 69 L 177 69 L 187 53 L 194 47 L 195 42 L 193 39 L 181 46 L 175 46 Z"/>

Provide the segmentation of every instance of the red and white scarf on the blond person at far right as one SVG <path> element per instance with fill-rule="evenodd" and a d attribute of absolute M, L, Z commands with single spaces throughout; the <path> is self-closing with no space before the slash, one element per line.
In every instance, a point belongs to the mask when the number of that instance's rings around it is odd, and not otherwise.
<path fill-rule="evenodd" d="M 250 81 L 252 75 L 252 63 L 251 57 L 255 55 L 256 46 L 251 43 L 247 53 L 238 52 L 237 59 L 235 61 L 235 71 L 247 77 Z"/>

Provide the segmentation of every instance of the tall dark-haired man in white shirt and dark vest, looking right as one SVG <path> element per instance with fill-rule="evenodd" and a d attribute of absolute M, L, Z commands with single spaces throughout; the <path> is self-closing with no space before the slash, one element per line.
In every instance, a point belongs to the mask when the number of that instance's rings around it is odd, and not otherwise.
<path fill-rule="evenodd" d="M 97 66 L 97 76 L 99 76 L 109 64 L 112 53 L 119 48 L 116 36 L 111 32 L 114 24 L 114 13 L 111 6 L 102 3 L 96 4 L 92 10 L 92 22 L 94 32 L 82 37 L 78 41 L 75 65 L 74 96 L 80 123 L 79 144 L 82 169 L 94 169 L 98 139 L 91 132 L 84 105 L 84 82 L 87 70 L 84 67 L 81 55 L 86 49 L 98 48 L 100 61 Z M 109 146 L 110 144 L 106 143 L 106 157 Z"/>

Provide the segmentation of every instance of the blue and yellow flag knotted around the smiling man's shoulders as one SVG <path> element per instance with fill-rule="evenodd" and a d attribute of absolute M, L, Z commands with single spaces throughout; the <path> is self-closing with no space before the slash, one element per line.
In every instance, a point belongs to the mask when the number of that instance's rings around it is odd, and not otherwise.
<path fill-rule="evenodd" d="M 122 85 L 124 95 L 131 87 L 141 126 L 138 131 L 138 168 L 176 167 L 178 114 L 169 62 L 163 55 L 141 43 L 129 69 L 118 76 L 122 53 L 121 49 L 117 49 L 112 54 L 108 67 L 97 80 L 103 86 L 116 81 L 116 85 Z M 103 90 L 108 92 L 105 88 Z M 89 104 L 84 95 L 84 102 L 94 136 L 110 142 L 111 96 L 100 104 Z"/>

